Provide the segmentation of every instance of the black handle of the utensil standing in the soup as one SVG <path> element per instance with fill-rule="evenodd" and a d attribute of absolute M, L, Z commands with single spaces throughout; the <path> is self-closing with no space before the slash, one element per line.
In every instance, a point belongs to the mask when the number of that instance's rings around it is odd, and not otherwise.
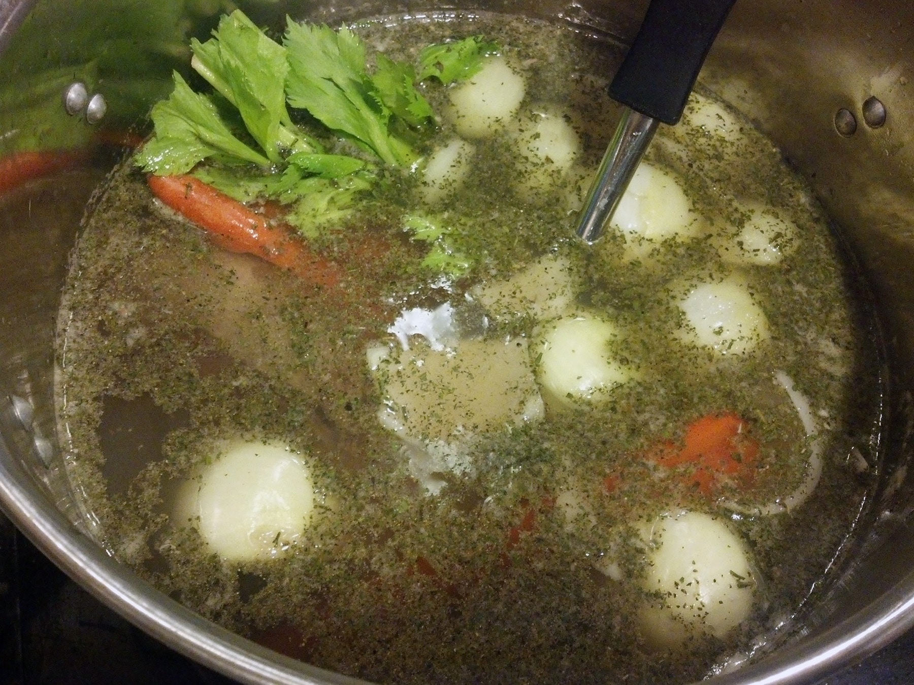
<path fill-rule="evenodd" d="M 674 124 L 736 0 L 651 0 L 610 97 Z"/>

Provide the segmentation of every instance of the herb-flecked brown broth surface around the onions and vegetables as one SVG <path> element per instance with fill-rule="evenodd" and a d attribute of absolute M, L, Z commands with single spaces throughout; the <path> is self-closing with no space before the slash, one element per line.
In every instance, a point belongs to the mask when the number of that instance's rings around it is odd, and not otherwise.
<path fill-rule="evenodd" d="M 369 46 L 407 58 L 446 37 L 499 40 L 526 69 L 526 102 L 569 110 L 583 141 L 579 163 L 599 161 L 616 112 L 593 75 L 618 61 L 611 43 L 501 16 L 359 30 Z M 441 111 L 444 90 L 427 95 Z M 444 124 L 441 140 L 449 133 Z M 731 270 L 712 241 L 664 243 L 651 260 L 634 262 L 618 236 L 581 246 L 570 238 L 568 187 L 532 202 L 512 194 L 506 135 L 478 146 L 462 195 L 447 205 L 451 216 L 486 227 L 462 238 L 486 255 L 483 275 L 444 284 L 416 268 L 421 248 L 400 220 L 417 205 L 415 182 L 391 175 L 387 194 L 367 202 L 348 233 L 314 241 L 348 269 L 346 290 L 360 301 L 211 247 L 197 228 L 157 209 L 143 175 L 123 165 L 91 207 L 58 333 L 70 477 L 101 543 L 204 616 L 368 680 L 693 680 L 774 633 L 840 560 L 875 485 L 877 469 L 861 473 L 850 455 L 877 463 L 877 350 L 825 217 L 771 144 L 748 126 L 744 133 L 728 142 L 669 132 L 667 141 L 688 145 L 687 163 L 662 142 L 650 157 L 679 174 L 696 211 L 717 217 L 718 232 L 739 224 L 739 196 L 776 207 L 800 230 L 800 247 L 781 264 L 742 269 L 772 334 L 735 361 L 671 334 L 677 279 Z M 365 241 L 385 249 L 347 261 Z M 590 284 L 576 294 L 580 306 L 611 312 L 636 332 L 618 352 L 648 371 L 596 406 L 547 409 L 542 421 L 478 436 L 463 447 L 472 469 L 439 474 L 444 485 L 430 495 L 402 441 L 378 423 L 381 395 L 366 349 L 389 339 L 398 311 L 461 300 L 478 279 L 504 279 L 547 253 L 569 259 Z M 529 341 L 536 322 L 493 320 L 484 335 Z M 734 411 L 762 446 L 752 501 L 794 490 L 808 443 L 772 381 L 777 371 L 811 398 L 823 425 L 824 472 L 795 510 L 733 513 L 721 501 L 735 490 L 709 500 L 658 479 L 639 457 L 698 416 Z M 182 479 L 234 438 L 299 450 L 323 497 L 303 537 L 275 559 L 223 562 L 193 527 L 172 521 Z M 595 525 L 555 511 L 569 484 Z M 676 507 L 728 518 L 754 558 L 758 587 L 752 616 L 726 641 L 696 637 L 656 652 L 637 627 L 644 551 L 636 526 Z M 591 563 L 611 548 L 622 580 Z"/>

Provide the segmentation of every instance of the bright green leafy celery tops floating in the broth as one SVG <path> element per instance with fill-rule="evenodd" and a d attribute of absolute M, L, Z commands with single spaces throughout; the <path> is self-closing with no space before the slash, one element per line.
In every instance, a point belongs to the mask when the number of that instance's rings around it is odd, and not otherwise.
<path fill-rule="evenodd" d="M 213 92 L 196 92 L 175 72 L 174 90 L 151 112 L 154 135 L 134 163 L 150 174 L 194 174 L 239 202 L 277 201 L 292 226 L 316 237 L 373 187 L 377 163 L 416 167 L 420 155 L 400 132 L 436 125 L 417 81 L 468 79 L 497 49 L 469 37 L 426 47 L 418 76 L 412 65 L 382 54 L 369 72 L 365 44 L 348 28 L 288 19 L 281 45 L 236 10 L 209 40 L 191 42 L 191 67 Z M 307 111 L 365 156 L 328 153 L 289 108 Z M 423 267 L 454 277 L 470 268 L 441 222 L 412 216 L 406 227 L 430 244 Z"/>

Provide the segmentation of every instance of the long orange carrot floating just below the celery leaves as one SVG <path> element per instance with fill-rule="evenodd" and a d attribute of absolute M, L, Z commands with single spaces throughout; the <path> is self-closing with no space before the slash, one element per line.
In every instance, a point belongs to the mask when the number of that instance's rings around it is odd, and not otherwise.
<path fill-rule="evenodd" d="M 330 288 L 343 278 L 343 269 L 308 248 L 292 228 L 271 223 L 193 176 L 151 174 L 147 183 L 165 205 L 207 230 L 221 248 L 256 255 L 314 285 Z"/>

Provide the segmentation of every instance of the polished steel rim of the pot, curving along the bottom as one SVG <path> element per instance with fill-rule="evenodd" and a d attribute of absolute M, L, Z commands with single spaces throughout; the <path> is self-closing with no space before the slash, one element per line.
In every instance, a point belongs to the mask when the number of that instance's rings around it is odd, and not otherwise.
<path fill-rule="evenodd" d="M 0 54 L 37 0 L 0 0 Z M 219 627 L 155 590 L 85 536 L 48 499 L 0 437 L 0 511 L 65 574 L 169 648 L 225 676 L 271 685 L 356 685 L 350 678 L 285 657 Z M 887 646 L 914 627 L 914 570 L 839 624 L 800 639 L 718 685 L 815 683 Z M 703 681 L 705 682 L 705 681 Z"/>

